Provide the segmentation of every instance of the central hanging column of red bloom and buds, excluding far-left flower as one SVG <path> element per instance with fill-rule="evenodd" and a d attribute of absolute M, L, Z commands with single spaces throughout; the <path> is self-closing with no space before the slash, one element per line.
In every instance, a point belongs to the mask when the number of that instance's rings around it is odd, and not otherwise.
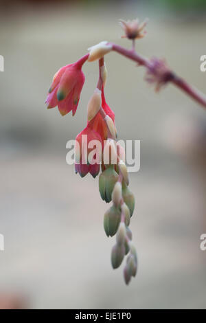
<path fill-rule="evenodd" d="M 104 214 L 104 230 L 107 236 L 116 234 L 116 245 L 112 249 L 111 263 L 119 267 L 128 254 L 124 269 L 126 284 L 137 272 L 137 254 L 128 228 L 135 208 L 135 197 L 128 188 L 124 148 L 117 142 L 115 114 L 106 104 L 104 84 L 106 82 L 104 60 L 100 60 L 100 85 L 96 88 L 87 105 L 87 127 L 76 137 L 76 172 L 84 177 L 88 172 L 96 177 L 100 172 L 99 190 L 111 208 Z M 86 136 L 87 135 L 87 136 Z M 84 139 L 85 138 L 85 139 Z M 95 150 L 93 144 L 95 142 Z M 98 142 L 100 145 L 98 145 Z M 80 147 L 80 149 L 79 149 Z"/>

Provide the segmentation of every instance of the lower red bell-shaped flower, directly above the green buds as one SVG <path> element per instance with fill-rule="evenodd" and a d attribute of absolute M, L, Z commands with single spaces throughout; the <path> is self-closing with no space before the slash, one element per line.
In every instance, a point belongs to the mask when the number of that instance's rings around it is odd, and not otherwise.
<path fill-rule="evenodd" d="M 87 127 L 76 137 L 76 173 L 84 177 L 90 172 L 95 178 L 100 172 L 101 150 L 100 135 L 92 129 L 91 124 L 87 124 Z"/>

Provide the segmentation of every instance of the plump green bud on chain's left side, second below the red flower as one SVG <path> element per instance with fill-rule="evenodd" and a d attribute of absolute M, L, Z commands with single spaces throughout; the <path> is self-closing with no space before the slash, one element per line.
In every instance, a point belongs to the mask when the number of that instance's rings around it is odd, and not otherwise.
<path fill-rule="evenodd" d="M 104 230 L 107 236 L 114 236 L 119 227 L 121 212 L 115 206 L 111 206 L 104 214 Z"/>

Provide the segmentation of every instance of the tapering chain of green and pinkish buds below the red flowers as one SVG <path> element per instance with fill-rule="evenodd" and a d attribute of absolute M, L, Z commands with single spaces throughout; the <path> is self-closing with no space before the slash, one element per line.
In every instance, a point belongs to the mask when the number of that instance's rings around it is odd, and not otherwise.
<path fill-rule="evenodd" d="M 119 164 L 106 165 L 99 177 L 100 195 L 106 203 L 112 201 L 111 208 L 104 214 L 104 230 L 106 236 L 115 236 L 116 244 L 111 252 L 113 269 L 118 268 L 128 254 L 124 268 L 124 280 L 130 282 L 131 276 L 137 272 L 137 254 L 132 243 L 129 229 L 130 217 L 135 208 L 135 197 L 128 188 L 128 172 L 124 161 Z"/>

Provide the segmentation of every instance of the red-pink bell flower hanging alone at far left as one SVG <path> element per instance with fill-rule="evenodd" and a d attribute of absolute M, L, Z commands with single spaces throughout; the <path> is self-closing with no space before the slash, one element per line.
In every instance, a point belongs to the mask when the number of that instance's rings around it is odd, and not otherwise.
<path fill-rule="evenodd" d="M 47 109 L 58 106 L 61 115 L 66 115 L 71 110 L 72 115 L 75 115 L 85 79 L 82 65 L 88 56 L 89 54 L 76 63 L 61 67 L 56 72 L 45 101 Z"/>

